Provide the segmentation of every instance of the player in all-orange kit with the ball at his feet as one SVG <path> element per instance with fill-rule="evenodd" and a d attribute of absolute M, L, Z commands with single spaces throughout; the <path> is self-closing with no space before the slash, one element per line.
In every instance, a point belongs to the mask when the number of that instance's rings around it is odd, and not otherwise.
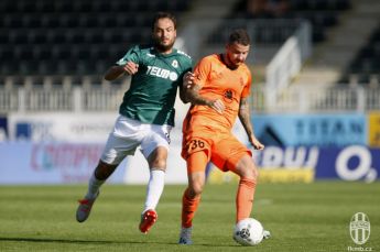
<path fill-rule="evenodd" d="M 181 244 L 192 243 L 192 221 L 205 185 L 208 162 L 240 177 L 236 221 L 250 217 L 258 169 L 252 153 L 231 133 L 239 117 L 252 146 L 264 149 L 253 134 L 248 106 L 251 73 L 245 61 L 249 51 L 247 32 L 235 30 L 225 53 L 202 58 L 194 74 L 184 77 L 186 99 L 192 106 L 183 123 L 182 156 L 187 163 L 188 187 L 182 200 Z"/>

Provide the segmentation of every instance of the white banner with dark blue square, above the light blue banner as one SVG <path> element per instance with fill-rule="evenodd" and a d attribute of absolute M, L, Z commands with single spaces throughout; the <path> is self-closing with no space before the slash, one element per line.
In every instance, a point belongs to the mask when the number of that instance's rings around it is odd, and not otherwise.
<path fill-rule="evenodd" d="M 117 116 L 115 112 L 10 113 L 9 140 L 104 143 Z"/>

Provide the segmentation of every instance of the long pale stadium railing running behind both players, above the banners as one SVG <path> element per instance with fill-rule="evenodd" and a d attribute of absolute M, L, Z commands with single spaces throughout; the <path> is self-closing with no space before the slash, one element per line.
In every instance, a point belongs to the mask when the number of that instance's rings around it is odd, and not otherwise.
<path fill-rule="evenodd" d="M 116 111 L 122 100 L 126 87 L 93 88 L 74 86 L 44 88 L 43 86 L 18 89 L 0 88 L 0 113 L 8 112 L 86 112 Z M 251 108 L 257 112 L 366 112 L 380 110 L 380 88 L 339 85 L 332 88 L 286 88 L 268 107 L 267 97 L 271 90 L 253 86 Z"/>

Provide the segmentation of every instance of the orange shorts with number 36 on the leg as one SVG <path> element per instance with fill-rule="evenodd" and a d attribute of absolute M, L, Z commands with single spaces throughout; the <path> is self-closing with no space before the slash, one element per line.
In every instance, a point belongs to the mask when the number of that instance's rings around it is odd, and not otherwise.
<path fill-rule="evenodd" d="M 252 156 L 251 151 L 229 132 L 218 132 L 210 129 L 197 130 L 199 131 L 196 134 L 184 134 L 182 157 L 189 164 L 188 157 L 193 153 L 204 152 L 207 160 L 197 162 L 196 165 L 187 165 L 187 173 L 205 171 L 209 161 L 222 172 L 234 171 L 243 155 Z"/>

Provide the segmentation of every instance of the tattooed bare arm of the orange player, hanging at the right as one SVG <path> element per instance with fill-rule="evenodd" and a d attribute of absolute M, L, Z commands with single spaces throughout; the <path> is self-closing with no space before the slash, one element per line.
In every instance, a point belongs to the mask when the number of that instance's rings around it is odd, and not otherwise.
<path fill-rule="evenodd" d="M 239 107 L 239 119 L 242 127 L 245 128 L 248 140 L 256 150 L 263 150 L 264 145 L 254 136 L 253 127 L 251 123 L 250 110 L 247 98 L 241 98 Z"/>

